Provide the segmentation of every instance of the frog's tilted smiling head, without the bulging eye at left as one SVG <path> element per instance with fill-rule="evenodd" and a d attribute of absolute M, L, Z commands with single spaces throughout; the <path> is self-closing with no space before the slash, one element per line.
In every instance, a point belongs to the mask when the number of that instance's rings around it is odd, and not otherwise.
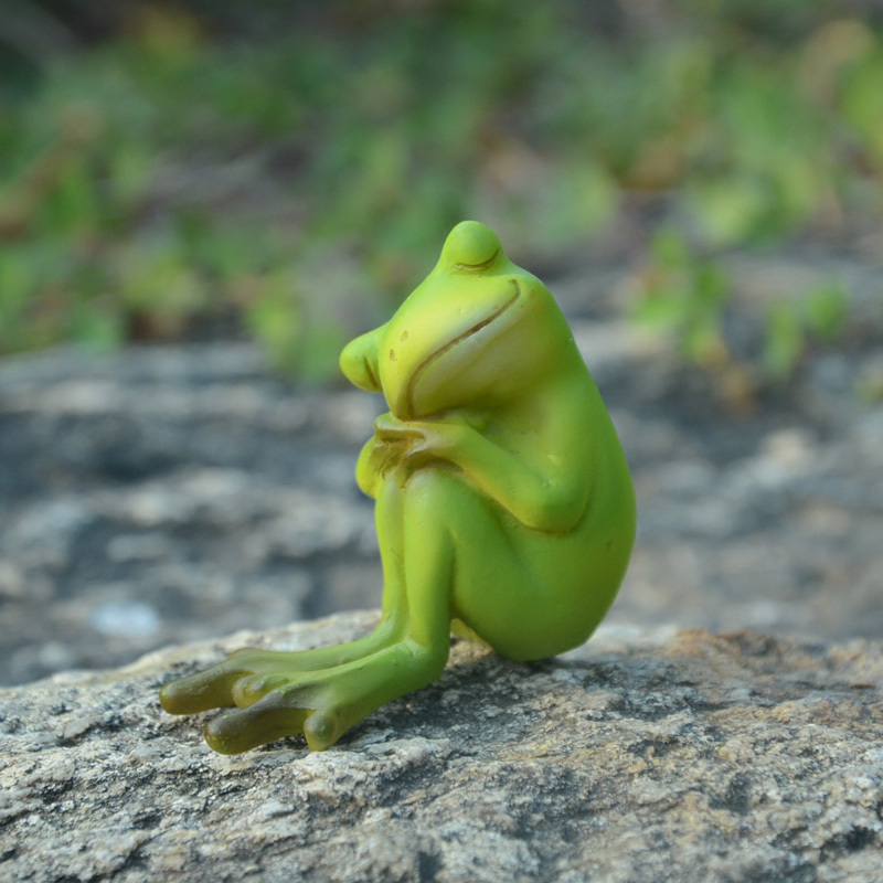
<path fill-rule="evenodd" d="M 464 221 L 386 326 L 381 385 L 403 419 L 491 406 L 542 383 L 562 336 L 570 340 L 542 283 L 507 258 L 488 227 Z"/>

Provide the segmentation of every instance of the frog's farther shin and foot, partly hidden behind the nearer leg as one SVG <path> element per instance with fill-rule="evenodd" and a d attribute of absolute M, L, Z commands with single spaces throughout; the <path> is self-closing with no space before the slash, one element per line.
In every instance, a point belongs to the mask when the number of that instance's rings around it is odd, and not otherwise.
<path fill-rule="evenodd" d="M 295 652 L 245 647 L 231 653 L 226 661 L 205 671 L 167 683 L 160 691 L 163 710 L 169 714 L 196 714 L 237 705 L 241 703 L 236 700 L 235 691 L 241 690 L 246 680 L 249 680 L 249 690 L 257 690 L 260 695 L 274 685 L 285 682 L 285 675 L 280 672 L 317 671 L 343 666 L 400 640 L 407 619 L 407 599 L 401 566 L 401 493 L 385 494 L 383 503 L 376 507 L 376 521 L 381 538 L 383 599 L 380 624 L 370 635 L 337 647 Z"/>

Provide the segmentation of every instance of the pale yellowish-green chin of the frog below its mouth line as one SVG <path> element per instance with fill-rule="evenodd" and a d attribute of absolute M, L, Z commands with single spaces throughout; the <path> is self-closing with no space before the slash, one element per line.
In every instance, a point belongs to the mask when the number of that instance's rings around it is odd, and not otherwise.
<path fill-rule="evenodd" d="M 490 372 L 499 376 L 499 372 L 511 370 L 511 361 L 518 354 L 494 344 L 522 318 L 522 311 L 514 309 L 520 297 L 515 283 L 511 296 L 496 309 L 419 361 L 390 403 L 393 414 L 414 419 L 461 407 L 478 392 L 474 387 L 483 386 L 483 375 Z"/>

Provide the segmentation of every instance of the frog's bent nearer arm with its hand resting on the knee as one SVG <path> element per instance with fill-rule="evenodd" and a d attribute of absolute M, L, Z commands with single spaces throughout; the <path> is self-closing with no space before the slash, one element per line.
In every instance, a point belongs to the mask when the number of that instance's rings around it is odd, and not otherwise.
<path fill-rule="evenodd" d="M 593 445 L 588 409 L 549 406 L 529 457 L 474 429 L 466 422 L 398 423 L 392 432 L 416 436 L 396 467 L 400 483 L 432 461 L 448 461 L 522 524 L 566 533 L 585 512 L 592 488 Z M 398 424 L 394 427 L 393 424 Z M 383 434 L 382 423 L 380 432 Z"/>

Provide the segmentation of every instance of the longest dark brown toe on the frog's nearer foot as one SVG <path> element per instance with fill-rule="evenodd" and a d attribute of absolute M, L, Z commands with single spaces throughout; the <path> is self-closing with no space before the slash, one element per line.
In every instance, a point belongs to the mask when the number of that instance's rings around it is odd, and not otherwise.
<path fill-rule="evenodd" d="M 247 709 L 215 717 L 203 731 L 205 742 L 219 754 L 242 754 L 285 736 L 304 732 L 312 709 L 296 708 L 281 691 L 267 693 Z"/>

